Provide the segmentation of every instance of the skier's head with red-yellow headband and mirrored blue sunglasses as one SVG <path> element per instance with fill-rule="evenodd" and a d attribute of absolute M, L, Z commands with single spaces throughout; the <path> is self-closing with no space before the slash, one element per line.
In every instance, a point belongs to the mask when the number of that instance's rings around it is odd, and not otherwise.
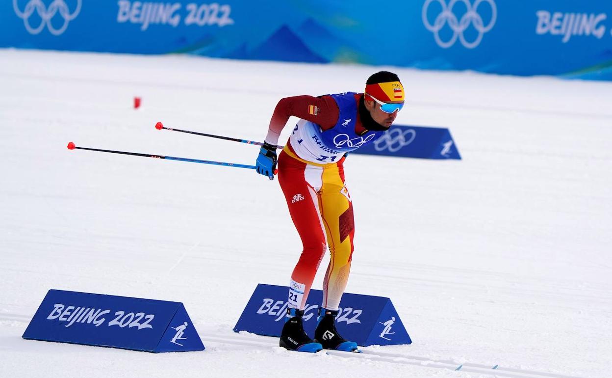
<path fill-rule="evenodd" d="M 365 108 L 381 126 L 391 126 L 404 106 L 404 99 L 404 87 L 400 78 L 393 72 L 376 72 L 365 82 Z"/>

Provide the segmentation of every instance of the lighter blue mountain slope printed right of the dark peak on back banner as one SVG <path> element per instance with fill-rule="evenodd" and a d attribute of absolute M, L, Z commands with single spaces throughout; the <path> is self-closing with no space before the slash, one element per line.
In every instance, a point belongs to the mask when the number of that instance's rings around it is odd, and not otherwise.
<path fill-rule="evenodd" d="M 359 62 L 367 64 L 367 58 L 351 43 L 327 30 L 313 18 L 308 18 L 296 29 L 297 35 L 312 51 L 327 61 Z"/>

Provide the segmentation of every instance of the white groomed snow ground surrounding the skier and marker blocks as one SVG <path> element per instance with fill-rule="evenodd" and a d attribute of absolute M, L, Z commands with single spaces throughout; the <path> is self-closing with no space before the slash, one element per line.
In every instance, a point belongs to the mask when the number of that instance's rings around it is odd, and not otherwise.
<path fill-rule="evenodd" d="M 262 140 L 278 99 L 361 91 L 384 68 L 406 87 L 397 123 L 449 127 L 463 157 L 345 164 L 356 216 L 346 291 L 390 297 L 413 341 L 365 350 L 422 365 L 288 352 L 263 336 L 207 341 L 241 337 L 232 328 L 259 282 L 288 284 L 301 244 L 278 182 L 66 148 L 254 164 L 255 146 L 154 125 Z M 496 374 L 428 366 L 449 360 L 612 375 L 611 83 L 0 50 L 0 84 L 1 377 Z M 181 301 L 207 349 L 22 339 L 49 289 Z"/>

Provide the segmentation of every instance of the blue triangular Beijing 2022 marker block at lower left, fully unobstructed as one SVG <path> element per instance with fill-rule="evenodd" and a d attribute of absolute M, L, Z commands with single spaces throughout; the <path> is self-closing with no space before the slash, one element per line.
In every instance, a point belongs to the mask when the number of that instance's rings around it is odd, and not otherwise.
<path fill-rule="evenodd" d="M 187 352 L 204 350 L 182 303 L 49 290 L 24 339 Z"/>

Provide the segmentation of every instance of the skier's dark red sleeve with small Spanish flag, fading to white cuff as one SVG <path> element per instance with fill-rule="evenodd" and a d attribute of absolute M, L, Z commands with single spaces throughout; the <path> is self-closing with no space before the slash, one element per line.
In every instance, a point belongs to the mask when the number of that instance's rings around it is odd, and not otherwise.
<path fill-rule="evenodd" d="M 330 96 L 285 97 L 278 101 L 274 109 L 266 142 L 272 145 L 278 144 L 280 132 L 285 127 L 290 116 L 311 121 L 321 126 L 323 130 L 329 130 L 338 122 L 340 110 L 338 110 L 335 100 Z"/>

